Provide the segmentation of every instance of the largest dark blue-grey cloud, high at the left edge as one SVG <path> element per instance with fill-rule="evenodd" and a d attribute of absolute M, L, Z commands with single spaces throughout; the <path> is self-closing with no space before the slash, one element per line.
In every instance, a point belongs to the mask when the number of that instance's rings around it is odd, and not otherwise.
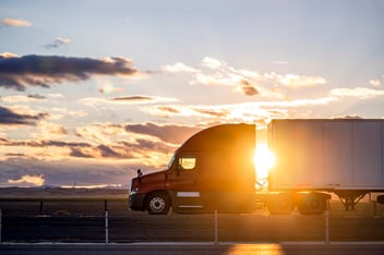
<path fill-rule="evenodd" d="M 0 87 L 25 90 L 27 86 L 50 87 L 64 82 L 81 82 L 93 75 L 135 76 L 139 71 L 129 59 L 75 58 L 27 54 L 0 54 Z"/>

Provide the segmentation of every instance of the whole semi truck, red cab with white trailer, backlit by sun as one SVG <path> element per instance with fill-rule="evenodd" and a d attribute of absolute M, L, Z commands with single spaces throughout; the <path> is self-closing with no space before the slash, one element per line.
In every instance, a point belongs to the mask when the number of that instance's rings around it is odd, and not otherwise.
<path fill-rule="evenodd" d="M 267 146 L 275 163 L 257 186 L 255 124 L 221 124 L 197 132 L 163 171 L 131 180 L 129 207 L 148 214 L 250 212 L 256 202 L 271 214 L 322 214 L 332 194 L 345 208 L 384 192 L 384 120 L 275 119 Z M 260 184 L 260 183 L 259 183 Z M 377 202 L 384 195 L 377 196 Z"/>

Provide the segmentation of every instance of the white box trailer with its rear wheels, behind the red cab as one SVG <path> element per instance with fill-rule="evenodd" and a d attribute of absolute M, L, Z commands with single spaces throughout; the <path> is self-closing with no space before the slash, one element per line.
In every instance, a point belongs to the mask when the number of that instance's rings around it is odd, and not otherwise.
<path fill-rule="evenodd" d="M 268 189 L 280 194 L 272 210 L 291 209 L 292 193 L 305 214 L 324 209 L 329 196 L 320 192 L 338 195 L 347 210 L 368 193 L 384 192 L 384 120 L 272 120 L 268 146 L 276 158 Z"/>

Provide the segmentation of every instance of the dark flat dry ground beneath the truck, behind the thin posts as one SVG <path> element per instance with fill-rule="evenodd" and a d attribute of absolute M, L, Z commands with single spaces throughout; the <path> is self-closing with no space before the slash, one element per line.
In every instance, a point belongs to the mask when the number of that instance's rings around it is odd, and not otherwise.
<path fill-rule="evenodd" d="M 1 198 L 36 198 L 0 202 L 3 242 L 105 242 L 105 202 L 108 201 L 109 242 L 209 242 L 215 239 L 214 215 L 149 216 L 130 211 L 128 191 L 122 190 L 0 190 Z M 65 198 L 44 202 L 38 198 Z M 70 201 L 76 198 L 77 201 Z M 84 201 L 81 201 L 83 199 Z M 41 212 L 41 214 L 40 214 Z M 220 242 L 324 241 L 325 217 L 218 215 Z M 363 202 L 357 210 L 345 211 L 332 201 L 331 241 L 384 241 L 384 205 Z"/>

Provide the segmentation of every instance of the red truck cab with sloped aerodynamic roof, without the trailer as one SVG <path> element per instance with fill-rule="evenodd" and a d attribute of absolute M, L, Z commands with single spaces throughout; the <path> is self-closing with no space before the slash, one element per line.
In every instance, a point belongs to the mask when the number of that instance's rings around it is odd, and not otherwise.
<path fill-rule="evenodd" d="M 149 214 L 252 210 L 255 125 L 221 124 L 180 146 L 164 171 L 131 181 L 129 205 Z"/>

